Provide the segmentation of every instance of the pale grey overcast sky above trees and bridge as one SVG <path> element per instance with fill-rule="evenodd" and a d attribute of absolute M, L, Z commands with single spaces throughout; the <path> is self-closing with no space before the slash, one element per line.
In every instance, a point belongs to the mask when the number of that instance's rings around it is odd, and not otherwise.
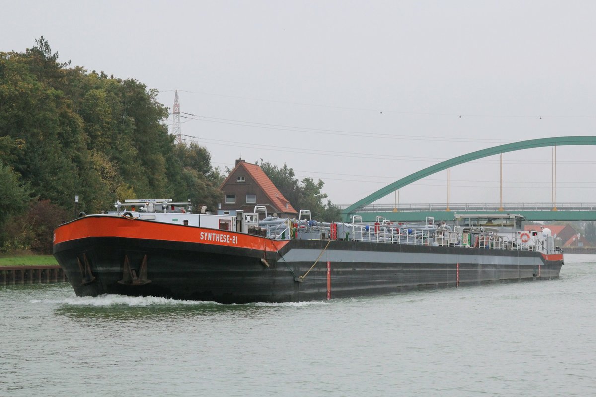
<path fill-rule="evenodd" d="M 596 135 L 594 1 L 6 1 L 0 50 L 134 78 L 213 165 L 284 162 L 352 204 L 502 143 Z M 461 117 L 460 117 L 461 116 Z M 167 121 L 172 127 L 172 118 Z M 193 137 L 193 138 L 190 138 Z M 551 148 L 504 155 L 504 202 L 552 199 Z M 557 202 L 596 202 L 596 147 L 557 149 Z M 447 171 L 400 190 L 446 202 Z M 393 203 L 390 194 L 378 203 Z M 498 202 L 499 157 L 451 169 L 451 202 Z"/>

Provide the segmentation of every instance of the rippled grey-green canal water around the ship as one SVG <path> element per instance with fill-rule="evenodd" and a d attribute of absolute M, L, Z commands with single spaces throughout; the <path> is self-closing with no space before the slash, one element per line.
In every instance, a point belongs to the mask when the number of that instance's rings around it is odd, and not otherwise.
<path fill-rule="evenodd" d="M 0 287 L 0 396 L 596 395 L 596 255 L 559 280 L 293 304 Z"/>

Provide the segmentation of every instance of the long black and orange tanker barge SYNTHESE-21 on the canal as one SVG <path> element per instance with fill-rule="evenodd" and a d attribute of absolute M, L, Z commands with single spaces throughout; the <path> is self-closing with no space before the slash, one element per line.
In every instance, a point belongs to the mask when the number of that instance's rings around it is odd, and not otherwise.
<path fill-rule="evenodd" d="M 455 215 L 452 224 L 378 218 L 321 223 L 254 211 L 193 213 L 171 200 L 117 202 L 54 231 L 54 256 L 78 296 L 296 302 L 412 289 L 557 279 L 563 252 L 520 215 Z"/>

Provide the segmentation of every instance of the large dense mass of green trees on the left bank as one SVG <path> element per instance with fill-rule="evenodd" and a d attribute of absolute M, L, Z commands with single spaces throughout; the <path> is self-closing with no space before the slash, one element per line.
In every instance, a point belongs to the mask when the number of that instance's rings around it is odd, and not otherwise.
<path fill-rule="evenodd" d="M 13 204 L 0 212 L 2 249 L 46 249 L 26 216 L 31 197 L 69 215 L 75 195 L 88 213 L 158 196 L 215 210 L 224 176 L 205 148 L 174 144 L 156 90 L 69 65 L 43 36 L 25 52 L 0 52 L 0 196 Z"/>

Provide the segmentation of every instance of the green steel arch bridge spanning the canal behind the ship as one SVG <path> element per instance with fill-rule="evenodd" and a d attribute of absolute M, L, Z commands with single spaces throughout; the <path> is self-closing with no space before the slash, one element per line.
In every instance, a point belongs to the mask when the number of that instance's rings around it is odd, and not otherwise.
<path fill-rule="evenodd" d="M 596 136 L 562 136 L 542 139 L 524 140 L 522 142 L 507 143 L 505 145 L 494 146 L 493 148 L 482 149 L 476 152 L 471 152 L 450 160 L 445 160 L 423 170 L 410 174 L 402 179 L 396 180 L 389 185 L 382 187 L 374 193 L 366 196 L 360 201 L 346 207 L 342 210 L 342 218 L 344 221 L 349 221 L 353 215 L 360 215 L 362 221 L 373 222 L 377 217 L 383 217 L 392 221 L 423 221 L 427 216 L 434 217 L 435 220 L 453 220 L 454 212 L 458 214 L 495 214 L 501 211 L 510 212 L 514 214 L 521 214 L 527 220 L 596 220 L 596 204 L 570 204 L 563 205 L 560 208 L 552 208 L 552 204 L 515 204 L 504 205 L 499 208 L 499 205 L 488 204 L 462 204 L 449 205 L 449 208 L 444 206 L 440 208 L 435 205 L 413 206 L 411 209 L 396 211 L 395 208 L 389 205 L 372 206 L 369 205 L 380 198 L 401 189 L 403 186 L 416 182 L 419 179 L 430 176 L 439 171 L 446 170 L 455 165 L 464 164 L 478 160 L 479 158 L 489 157 L 492 155 L 520 151 L 533 148 L 544 148 L 549 146 L 594 146 L 596 145 Z"/>

